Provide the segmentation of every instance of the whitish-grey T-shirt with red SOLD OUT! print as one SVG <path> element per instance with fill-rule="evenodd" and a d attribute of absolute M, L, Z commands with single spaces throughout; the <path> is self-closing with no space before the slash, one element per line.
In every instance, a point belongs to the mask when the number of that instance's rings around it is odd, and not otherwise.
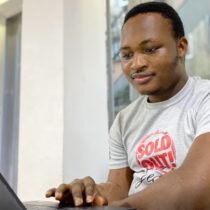
<path fill-rule="evenodd" d="M 116 117 L 109 138 L 110 169 L 134 171 L 129 194 L 179 167 L 193 140 L 210 132 L 210 81 L 190 77 L 172 98 L 140 96 Z"/>

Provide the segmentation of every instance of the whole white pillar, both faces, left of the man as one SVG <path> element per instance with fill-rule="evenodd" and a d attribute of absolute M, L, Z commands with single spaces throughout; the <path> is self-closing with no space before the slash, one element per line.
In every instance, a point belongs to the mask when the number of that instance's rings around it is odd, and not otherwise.
<path fill-rule="evenodd" d="M 18 195 L 108 172 L 106 1 L 23 1 Z"/>

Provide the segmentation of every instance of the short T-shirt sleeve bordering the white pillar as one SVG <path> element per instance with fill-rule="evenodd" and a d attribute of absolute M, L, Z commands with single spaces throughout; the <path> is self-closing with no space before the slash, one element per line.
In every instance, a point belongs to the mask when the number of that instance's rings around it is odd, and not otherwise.
<path fill-rule="evenodd" d="M 128 157 L 120 131 L 120 113 L 114 120 L 109 133 L 109 168 L 119 169 L 128 166 Z"/>

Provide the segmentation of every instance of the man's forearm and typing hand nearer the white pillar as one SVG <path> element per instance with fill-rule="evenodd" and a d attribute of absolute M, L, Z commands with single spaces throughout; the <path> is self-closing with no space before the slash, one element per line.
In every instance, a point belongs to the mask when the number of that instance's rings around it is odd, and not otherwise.
<path fill-rule="evenodd" d="M 109 171 L 106 183 L 96 184 L 91 177 L 76 179 L 70 184 L 61 184 L 48 190 L 46 197 L 55 197 L 60 202 L 75 206 L 87 203 L 101 206 L 126 198 L 132 178 L 133 172 L 128 167 L 113 169 Z"/>

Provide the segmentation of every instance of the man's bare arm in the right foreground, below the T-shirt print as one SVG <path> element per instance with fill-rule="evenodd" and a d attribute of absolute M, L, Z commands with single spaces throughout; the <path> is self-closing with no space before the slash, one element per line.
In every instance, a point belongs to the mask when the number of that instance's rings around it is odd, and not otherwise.
<path fill-rule="evenodd" d="M 194 140 L 180 168 L 113 205 L 138 210 L 210 209 L 210 133 Z"/>

